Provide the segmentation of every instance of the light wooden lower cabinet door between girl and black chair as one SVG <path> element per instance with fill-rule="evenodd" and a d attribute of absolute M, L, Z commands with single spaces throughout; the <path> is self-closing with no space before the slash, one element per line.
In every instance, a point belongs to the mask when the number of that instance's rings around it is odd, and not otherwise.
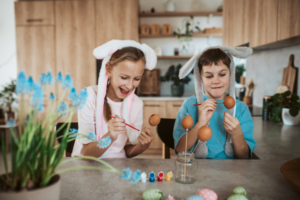
<path fill-rule="evenodd" d="M 160 114 L 159 114 L 160 113 Z M 142 127 L 149 128 L 148 123 L 149 117 L 152 114 L 159 114 L 160 118 L 165 118 L 165 101 L 144 101 L 143 102 L 143 124 Z M 153 140 L 149 148 L 144 151 L 144 154 L 161 154 L 162 153 L 162 142 L 159 139 L 156 128 L 151 127 L 153 134 Z"/>

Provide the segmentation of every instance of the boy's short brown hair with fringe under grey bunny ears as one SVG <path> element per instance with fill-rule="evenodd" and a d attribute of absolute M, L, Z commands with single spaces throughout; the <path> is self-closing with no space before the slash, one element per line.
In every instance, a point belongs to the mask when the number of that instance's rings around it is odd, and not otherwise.
<path fill-rule="evenodd" d="M 231 61 L 226 53 L 224 53 L 219 48 L 208 49 L 204 53 L 202 53 L 202 55 L 199 58 L 199 72 L 201 73 L 203 66 L 211 66 L 212 64 L 218 65 L 219 62 L 223 63 L 230 69 L 229 65 Z"/>

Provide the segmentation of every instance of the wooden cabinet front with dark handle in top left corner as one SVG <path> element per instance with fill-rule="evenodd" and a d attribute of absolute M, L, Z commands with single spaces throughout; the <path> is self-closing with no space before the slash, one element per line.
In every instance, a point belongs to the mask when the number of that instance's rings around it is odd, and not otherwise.
<path fill-rule="evenodd" d="M 15 25 L 53 25 L 53 1 L 14 2 Z"/>

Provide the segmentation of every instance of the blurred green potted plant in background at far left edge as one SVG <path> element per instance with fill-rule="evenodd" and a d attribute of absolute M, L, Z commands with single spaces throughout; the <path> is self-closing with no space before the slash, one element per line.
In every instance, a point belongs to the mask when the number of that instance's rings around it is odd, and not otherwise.
<path fill-rule="evenodd" d="M 4 108 L 8 108 L 8 119 L 14 118 L 14 112 L 12 112 L 11 104 L 16 100 L 15 96 L 15 80 L 11 80 L 11 82 L 4 86 L 3 90 L 0 92 L 0 102 Z"/>

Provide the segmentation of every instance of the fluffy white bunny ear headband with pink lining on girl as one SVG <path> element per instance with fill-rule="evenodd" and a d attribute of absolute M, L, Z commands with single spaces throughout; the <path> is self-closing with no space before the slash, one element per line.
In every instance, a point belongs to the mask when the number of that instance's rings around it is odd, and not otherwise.
<path fill-rule="evenodd" d="M 98 92 L 97 92 L 97 104 L 96 104 L 96 139 L 100 139 L 104 133 L 101 131 L 102 127 L 102 120 L 103 120 L 103 105 L 104 105 L 104 97 L 106 93 L 106 86 L 107 86 L 107 80 L 108 80 L 108 75 L 106 74 L 106 69 L 105 65 L 107 62 L 109 62 L 111 55 L 124 47 L 135 47 L 140 49 L 144 55 L 145 55 L 145 68 L 152 70 L 156 66 L 156 61 L 157 57 L 153 49 L 151 49 L 148 45 L 146 44 L 140 44 L 136 41 L 133 40 L 117 40 L 113 39 L 105 44 L 102 44 L 101 46 L 98 46 L 95 48 L 92 52 L 92 54 L 97 58 L 97 59 L 103 59 L 102 64 L 101 64 L 101 69 L 99 73 L 99 79 L 98 79 Z M 123 118 L 128 122 L 129 120 L 129 112 L 131 108 L 131 102 L 132 98 L 134 95 L 134 90 L 129 94 L 128 97 L 126 97 L 123 100 Z M 139 133 L 136 131 L 132 131 L 131 129 L 127 129 L 126 126 L 126 132 L 128 135 L 129 142 L 131 144 L 137 144 L 137 136 Z M 136 132 L 136 133 L 135 133 Z"/>

